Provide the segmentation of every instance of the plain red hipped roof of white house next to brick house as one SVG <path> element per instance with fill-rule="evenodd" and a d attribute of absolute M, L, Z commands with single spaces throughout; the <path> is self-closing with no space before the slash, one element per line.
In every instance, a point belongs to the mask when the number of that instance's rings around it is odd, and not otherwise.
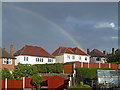
<path fill-rule="evenodd" d="M 47 58 L 54 58 L 49 52 L 43 49 L 40 46 L 31 46 L 25 45 L 22 49 L 15 52 L 14 56 L 19 55 L 29 55 L 29 56 L 38 56 L 38 57 L 47 57 Z"/>

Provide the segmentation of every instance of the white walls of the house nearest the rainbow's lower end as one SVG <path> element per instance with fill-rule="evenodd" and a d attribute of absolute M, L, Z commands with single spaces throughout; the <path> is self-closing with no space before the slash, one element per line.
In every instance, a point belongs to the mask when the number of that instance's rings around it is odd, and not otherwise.
<path fill-rule="evenodd" d="M 68 58 L 68 55 L 70 56 L 70 59 Z M 75 56 L 75 59 L 72 58 L 72 56 Z M 81 60 L 79 59 L 81 57 Z M 87 60 L 85 60 L 85 57 L 87 57 Z M 90 56 L 85 55 L 75 55 L 75 54 L 67 54 L 64 53 L 63 55 L 55 56 L 57 63 L 66 63 L 66 62 L 90 62 Z"/>

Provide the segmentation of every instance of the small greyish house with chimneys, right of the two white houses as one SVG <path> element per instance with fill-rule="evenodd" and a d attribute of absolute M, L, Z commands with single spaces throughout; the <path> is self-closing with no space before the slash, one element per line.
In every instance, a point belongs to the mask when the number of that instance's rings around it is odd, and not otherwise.
<path fill-rule="evenodd" d="M 90 57 L 90 62 L 91 63 L 105 63 L 106 62 L 106 51 L 99 51 L 98 49 L 93 49 L 91 52 L 89 49 L 87 49 L 87 54 L 89 54 Z"/>

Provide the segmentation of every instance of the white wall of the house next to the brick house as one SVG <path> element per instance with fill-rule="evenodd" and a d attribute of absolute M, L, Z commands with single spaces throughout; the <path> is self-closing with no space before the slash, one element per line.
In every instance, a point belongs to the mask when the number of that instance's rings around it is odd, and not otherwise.
<path fill-rule="evenodd" d="M 28 61 L 24 61 L 24 57 L 28 57 Z M 55 63 L 55 58 L 49 58 L 52 59 L 53 62 L 48 62 L 48 58 L 46 57 L 37 57 L 37 56 L 27 56 L 27 55 L 19 55 L 15 56 L 15 66 L 18 65 L 18 63 L 21 64 L 45 64 L 45 63 Z M 43 62 L 36 62 L 36 58 L 43 58 Z"/>

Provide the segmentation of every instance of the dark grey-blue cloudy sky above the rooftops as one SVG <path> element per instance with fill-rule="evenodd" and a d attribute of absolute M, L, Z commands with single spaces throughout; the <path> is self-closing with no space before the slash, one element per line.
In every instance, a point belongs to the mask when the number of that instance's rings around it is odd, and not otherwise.
<path fill-rule="evenodd" d="M 59 46 L 108 53 L 118 48 L 117 2 L 4 2 L 2 47 L 25 45 L 52 53 Z"/>

